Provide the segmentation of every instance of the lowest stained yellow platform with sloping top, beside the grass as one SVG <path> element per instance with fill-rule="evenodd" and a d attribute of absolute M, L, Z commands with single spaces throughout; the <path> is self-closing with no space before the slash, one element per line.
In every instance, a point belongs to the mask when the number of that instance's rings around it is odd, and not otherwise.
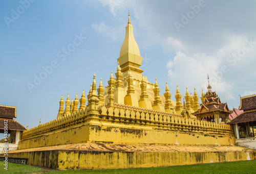
<path fill-rule="evenodd" d="M 3 154 L 2 154 L 3 155 Z M 123 145 L 77 143 L 10 151 L 27 164 L 66 169 L 113 169 L 253 160 L 253 150 L 239 146 Z"/>

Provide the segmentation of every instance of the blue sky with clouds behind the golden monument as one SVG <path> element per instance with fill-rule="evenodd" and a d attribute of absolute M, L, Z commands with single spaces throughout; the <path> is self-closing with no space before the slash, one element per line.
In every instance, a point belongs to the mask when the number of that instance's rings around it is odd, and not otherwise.
<path fill-rule="evenodd" d="M 68 92 L 86 95 L 96 73 L 107 85 L 125 36 L 130 9 L 141 69 L 172 99 L 207 85 L 229 109 L 256 93 L 255 1 L 1 1 L 2 105 L 33 128 L 57 117 Z M 66 51 L 65 51 L 66 50 Z M 49 68 L 51 66 L 51 68 Z M 38 78 L 41 77 L 40 80 Z M 37 79 L 37 80 L 35 80 Z M 28 87 L 28 84 L 29 87 Z M 32 84 L 32 86 L 31 86 Z M 33 86 L 34 85 L 34 86 Z M 200 101 L 201 102 L 201 101 Z"/>

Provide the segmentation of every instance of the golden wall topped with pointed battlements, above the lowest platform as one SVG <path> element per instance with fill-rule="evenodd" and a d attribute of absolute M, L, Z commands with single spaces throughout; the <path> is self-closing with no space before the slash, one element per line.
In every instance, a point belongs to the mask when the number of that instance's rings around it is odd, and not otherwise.
<path fill-rule="evenodd" d="M 175 114 L 161 115 L 118 108 L 102 107 L 99 112 L 95 115 L 79 110 L 78 113 L 25 131 L 18 149 L 80 142 L 180 145 L 236 143 L 232 127 L 226 124 L 184 119 Z M 117 133 L 114 132 L 116 129 Z"/>

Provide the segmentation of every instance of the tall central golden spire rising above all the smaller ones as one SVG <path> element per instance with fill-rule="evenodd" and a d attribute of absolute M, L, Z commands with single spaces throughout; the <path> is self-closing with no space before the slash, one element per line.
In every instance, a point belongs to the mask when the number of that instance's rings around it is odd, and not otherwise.
<path fill-rule="evenodd" d="M 139 67 L 142 64 L 142 57 L 140 57 L 139 46 L 133 35 L 130 11 L 128 16 L 128 23 L 125 27 L 125 38 L 120 50 L 120 57 L 117 59 L 117 61 L 120 63 L 123 77 L 128 76 L 128 71 L 131 72 L 134 78 L 141 77 L 141 72 L 143 72 L 143 70 L 141 70 Z"/>

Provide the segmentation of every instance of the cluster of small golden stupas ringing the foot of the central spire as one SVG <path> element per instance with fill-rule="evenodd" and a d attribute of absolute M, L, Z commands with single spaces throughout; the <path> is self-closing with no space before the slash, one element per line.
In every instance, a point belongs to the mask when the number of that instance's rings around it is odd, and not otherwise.
<path fill-rule="evenodd" d="M 158 88 L 157 80 L 155 84 L 150 84 L 144 80 L 144 76 L 142 75 L 142 80 L 139 81 L 140 83 L 140 91 L 138 88 L 134 87 L 133 79 L 129 74 L 126 78 L 121 78 L 121 69 L 118 65 L 116 79 L 113 77 L 113 73 L 111 72 L 111 77 L 109 82 L 109 86 L 106 87 L 106 90 L 103 88 L 102 80 L 100 80 L 99 87 L 97 89 L 97 98 L 98 98 L 98 105 L 108 105 L 114 106 L 114 104 L 119 105 L 130 105 L 134 107 L 140 107 L 150 110 L 156 110 L 160 112 L 168 112 L 174 114 L 183 114 L 185 112 L 194 113 L 199 110 L 199 96 L 194 92 L 194 96 L 188 93 L 186 90 L 186 95 L 183 98 L 183 105 L 181 103 L 182 95 L 180 94 L 178 85 L 176 90 L 176 103 L 170 99 L 172 93 L 169 92 L 169 88 L 166 82 L 165 93 L 163 95 L 159 94 L 160 88 Z M 124 86 L 126 84 L 126 86 Z M 147 87 L 149 86 L 149 88 Z M 104 93 L 105 91 L 105 93 Z M 124 95 L 126 94 L 126 95 Z M 89 100 L 90 96 L 92 95 L 92 85 L 87 95 Z M 139 96 L 139 97 L 138 97 Z M 78 100 L 77 93 L 75 100 L 70 101 L 69 94 L 66 101 L 63 101 L 63 95 L 60 99 L 60 108 L 57 115 L 57 118 L 68 115 L 70 113 L 74 113 L 77 110 L 86 108 L 86 95 L 84 94 L 84 90 L 82 92 L 81 98 Z M 186 101 L 186 102 L 185 102 Z M 79 105 L 80 103 L 80 105 Z M 64 109 L 64 104 L 66 104 Z M 79 108 L 78 108 L 79 105 Z"/>

